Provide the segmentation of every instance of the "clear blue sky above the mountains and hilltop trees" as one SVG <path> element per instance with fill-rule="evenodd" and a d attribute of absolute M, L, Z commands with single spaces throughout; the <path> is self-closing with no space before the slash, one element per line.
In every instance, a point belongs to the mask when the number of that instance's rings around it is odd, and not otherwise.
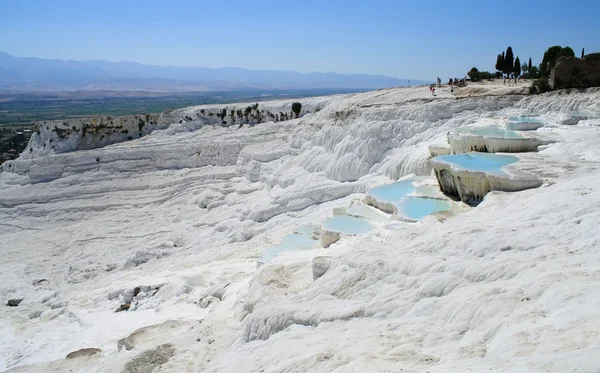
<path fill-rule="evenodd" d="M 600 51 L 597 0 L 0 0 L 15 56 L 383 74 L 433 80 L 493 70 L 512 46 Z"/>

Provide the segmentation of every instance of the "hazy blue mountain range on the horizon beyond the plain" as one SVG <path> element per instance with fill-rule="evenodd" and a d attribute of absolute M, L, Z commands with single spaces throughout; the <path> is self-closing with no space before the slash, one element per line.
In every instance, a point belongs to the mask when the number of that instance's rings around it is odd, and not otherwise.
<path fill-rule="evenodd" d="M 136 62 L 14 57 L 0 51 L 0 90 L 212 91 L 239 89 L 378 89 L 427 82 L 364 74 L 310 74 L 236 67 L 154 66 Z"/>

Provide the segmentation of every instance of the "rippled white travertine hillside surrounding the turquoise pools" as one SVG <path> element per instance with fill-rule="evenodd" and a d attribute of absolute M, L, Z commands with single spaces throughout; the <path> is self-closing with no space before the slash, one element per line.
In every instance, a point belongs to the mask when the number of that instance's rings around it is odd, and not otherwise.
<path fill-rule="evenodd" d="M 600 92 L 524 91 L 303 98 L 253 126 L 193 107 L 131 141 L 26 149 L 0 173 L 0 371 L 597 372 L 600 119 L 561 123 Z M 540 187 L 257 268 L 368 188 L 431 175 L 452 129 L 526 113 L 555 141 L 519 154 Z"/>

